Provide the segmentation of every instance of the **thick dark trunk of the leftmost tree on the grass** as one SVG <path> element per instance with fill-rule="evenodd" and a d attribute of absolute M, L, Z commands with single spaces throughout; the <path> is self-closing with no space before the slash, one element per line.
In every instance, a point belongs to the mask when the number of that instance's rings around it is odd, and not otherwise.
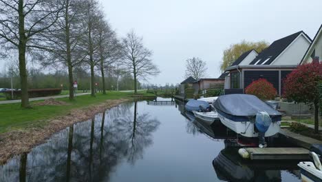
<path fill-rule="evenodd" d="M 27 37 L 25 36 L 25 14 L 23 14 L 23 0 L 19 0 L 19 75 L 21 85 L 21 107 L 30 108 L 28 98 L 28 76 L 25 63 Z"/>

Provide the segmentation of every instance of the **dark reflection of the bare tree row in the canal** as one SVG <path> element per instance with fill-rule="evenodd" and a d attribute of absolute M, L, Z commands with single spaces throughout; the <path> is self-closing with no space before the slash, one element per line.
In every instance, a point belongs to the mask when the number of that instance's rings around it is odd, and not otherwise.
<path fill-rule="evenodd" d="M 0 181 L 109 181 L 123 159 L 133 165 L 142 158 L 159 125 L 138 114 L 137 102 L 122 104 L 0 166 Z"/>

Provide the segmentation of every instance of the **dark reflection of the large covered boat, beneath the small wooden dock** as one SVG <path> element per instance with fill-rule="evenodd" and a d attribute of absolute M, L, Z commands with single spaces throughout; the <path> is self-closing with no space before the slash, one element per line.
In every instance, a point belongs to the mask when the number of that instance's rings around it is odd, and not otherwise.
<path fill-rule="evenodd" d="M 226 147 L 213 160 L 213 168 L 222 181 L 282 181 L 281 171 L 294 172 L 297 161 L 247 161 L 236 148 Z"/>

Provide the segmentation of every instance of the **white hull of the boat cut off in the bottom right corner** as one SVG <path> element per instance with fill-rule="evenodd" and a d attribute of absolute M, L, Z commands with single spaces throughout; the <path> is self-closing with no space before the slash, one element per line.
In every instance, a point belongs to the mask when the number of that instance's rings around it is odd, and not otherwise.
<path fill-rule="evenodd" d="M 301 168 L 301 179 L 305 182 L 322 181 L 322 172 L 315 168 L 312 162 L 300 162 L 298 164 Z"/>

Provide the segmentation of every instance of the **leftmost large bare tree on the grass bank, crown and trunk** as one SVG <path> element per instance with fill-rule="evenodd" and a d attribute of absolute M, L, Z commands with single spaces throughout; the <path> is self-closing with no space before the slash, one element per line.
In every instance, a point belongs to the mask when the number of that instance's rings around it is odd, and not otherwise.
<path fill-rule="evenodd" d="M 26 50 L 36 47 L 34 44 L 36 41 L 32 41 L 32 38 L 50 28 L 58 19 L 61 8 L 53 6 L 55 3 L 54 0 L 0 0 L 0 43 L 19 50 L 21 107 L 23 108 L 30 107 Z"/>

